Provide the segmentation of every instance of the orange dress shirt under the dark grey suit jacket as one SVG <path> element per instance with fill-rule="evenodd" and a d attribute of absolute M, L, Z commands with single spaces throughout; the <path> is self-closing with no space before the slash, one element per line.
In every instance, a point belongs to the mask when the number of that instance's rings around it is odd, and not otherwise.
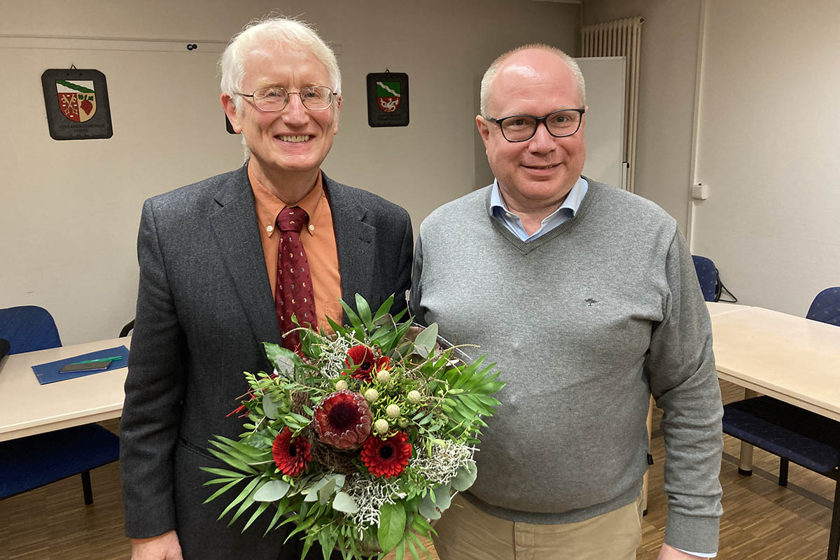
<path fill-rule="evenodd" d="M 271 293 L 277 285 L 277 249 L 280 247 L 280 235 L 276 233 L 276 220 L 280 211 L 288 206 L 277 196 L 257 181 L 251 166 L 248 166 L 248 178 L 254 191 L 254 203 L 257 222 L 260 226 L 265 269 L 271 283 Z M 333 332 L 326 317 L 334 322 L 342 322 L 344 310 L 341 308 L 341 273 L 339 271 L 339 252 L 335 245 L 333 214 L 329 210 L 329 201 L 323 191 L 323 181 L 318 173 L 318 181 L 312 191 L 297 203 L 298 207 L 309 214 L 309 222 L 301 231 L 303 250 L 307 253 L 309 271 L 312 274 L 312 293 L 315 296 L 315 314 L 318 328 Z"/>

